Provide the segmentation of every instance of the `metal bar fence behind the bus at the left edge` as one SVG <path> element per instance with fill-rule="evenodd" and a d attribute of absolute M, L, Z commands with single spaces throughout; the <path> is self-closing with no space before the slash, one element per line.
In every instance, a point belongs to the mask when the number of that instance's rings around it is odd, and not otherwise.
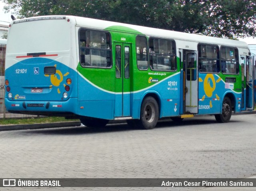
<path fill-rule="evenodd" d="M 0 44 L 0 119 L 1 118 L 30 118 L 30 117 L 43 117 L 38 115 L 25 115 L 25 114 L 13 114 L 6 111 L 4 105 L 4 95 L 5 95 L 5 54 L 6 54 L 6 44 Z"/>

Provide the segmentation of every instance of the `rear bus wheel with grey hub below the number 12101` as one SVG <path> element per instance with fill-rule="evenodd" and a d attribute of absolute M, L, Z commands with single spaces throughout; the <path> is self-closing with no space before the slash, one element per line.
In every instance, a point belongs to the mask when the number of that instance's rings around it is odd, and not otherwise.
<path fill-rule="evenodd" d="M 158 122 L 159 108 L 158 103 L 153 97 L 147 97 L 142 102 L 140 108 L 139 126 L 145 129 L 152 129 Z"/>

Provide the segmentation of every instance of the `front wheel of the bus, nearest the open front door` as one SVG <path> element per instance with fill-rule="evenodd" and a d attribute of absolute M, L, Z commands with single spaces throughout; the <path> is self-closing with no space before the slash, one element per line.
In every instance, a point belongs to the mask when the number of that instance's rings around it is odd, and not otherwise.
<path fill-rule="evenodd" d="M 224 97 L 224 100 L 222 102 L 222 112 L 221 114 L 216 114 L 215 119 L 219 123 L 226 123 L 230 120 L 232 115 L 232 105 L 230 98 Z"/>

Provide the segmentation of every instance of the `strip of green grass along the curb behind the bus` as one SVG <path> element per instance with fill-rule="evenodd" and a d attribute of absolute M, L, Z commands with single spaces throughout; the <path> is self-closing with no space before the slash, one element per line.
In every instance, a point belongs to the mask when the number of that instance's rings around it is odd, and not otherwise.
<path fill-rule="evenodd" d="M 5 118 L 0 119 L 0 125 L 14 125 L 14 124 L 36 124 L 36 123 L 54 123 L 54 122 L 68 122 L 79 121 L 78 119 L 65 119 L 64 117 L 40 117 L 40 118 Z"/>

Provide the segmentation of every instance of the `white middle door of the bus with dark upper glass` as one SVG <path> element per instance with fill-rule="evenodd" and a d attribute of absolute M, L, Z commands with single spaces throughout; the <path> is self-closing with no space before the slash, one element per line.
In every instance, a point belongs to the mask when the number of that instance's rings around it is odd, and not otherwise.
<path fill-rule="evenodd" d="M 184 51 L 185 113 L 198 113 L 198 61 L 197 51 Z"/>

